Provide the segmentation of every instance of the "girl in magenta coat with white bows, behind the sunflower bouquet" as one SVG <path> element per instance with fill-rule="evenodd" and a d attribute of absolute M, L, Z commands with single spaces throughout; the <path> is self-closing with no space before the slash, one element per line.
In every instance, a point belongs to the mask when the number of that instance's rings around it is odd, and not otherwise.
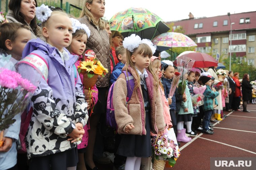
<path fill-rule="evenodd" d="M 72 20 L 72 25 L 75 26 L 73 28 L 72 33 L 72 42 L 67 47 L 69 52 L 73 55 L 77 55 L 79 58 L 75 62 L 76 69 L 79 66 L 79 63 L 84 59 L 84 56 L 82 53 L 85 51 L 86 48 L 86 42 L 88 37 L 90 36 L 90 30 L 85 24 L 81 24 L 77 19 L 70 18 Z M 83 81 L 83 75 L 80 75 L 81 81 Z M 90 98 L 88 89 L 84 89 L 85 99 L 87 103 L 93 103 L 96 104 L 98 101 L 98 89 L 94 85 L 92 88 L 95 92 L 92 92 L 92 98 Z M 90 109 L 90 105 L 88 104 L 87 109 Z M 91 109 L 89 110 L 89 113 L 91 113 Z M 84 126 L 85 134 L 83 135 L 82 142 L 77 145 L 78 149 L 78 163 L 77 163 L 77 170 L 83 170 L 86 169 L 85 167 L 85 158 L 84 153 L 86 151 L 86 146 L 88 144 L 88 129 L 90 127 L 87 125 Z"/>

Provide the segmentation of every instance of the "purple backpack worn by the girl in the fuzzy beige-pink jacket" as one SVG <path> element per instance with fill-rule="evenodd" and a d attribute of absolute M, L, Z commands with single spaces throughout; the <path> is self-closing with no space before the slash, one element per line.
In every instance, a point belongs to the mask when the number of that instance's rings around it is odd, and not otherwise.
<path fill-rule="evenodd" d="M 127 97 L 126 102 L 131 99 L 132 92 L 134 89 L 134 77 L 130 72 L 128 76 L 126 75 L 126 71 L 123 71 L 126 77 L 126 85 L 127 85 Z M 115 82 L 110 86 L 108 95 L 107 95 L 107 111 L 106 111 L 106 125 L 110 126 L 113 129 L 117 129 L 117 122 L 115 119 L 115 110 L 113 106 L 113 89 L 114 89 Z"/>

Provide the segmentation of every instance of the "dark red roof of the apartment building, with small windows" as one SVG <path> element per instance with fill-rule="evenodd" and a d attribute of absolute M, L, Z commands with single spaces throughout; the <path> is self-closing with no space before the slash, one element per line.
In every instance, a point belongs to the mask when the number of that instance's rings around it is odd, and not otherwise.
<path fill-rule="evenodd" d="M 244 18 L 243 24 L 239 24 L 240 18 Z M 246 18 L 250 18 L 250 23 L 245 23 Z M 256 29 L 256 11 L 230 14 L 230 19 L 232 23 L 235 23 L 232 25 L 232 31 Z M 223 25 L 224 20 L 228 21 L 228 25 Z M 213 26 L 213 22 L 215 21 L 218 22 L 217 27 Z M 186 35 L 230 31 L 230 20 L 228 15 L 183 19 L 178 21 L 166 22 L 166 24 L 169 23 L 174 23 L 174 26 L 182 26 L 183 30 L 185 30 Z M 203 28 L 194 29 L 194 25 L 198 24 L 199 26 L 200 23 L 203 23 Z"/>

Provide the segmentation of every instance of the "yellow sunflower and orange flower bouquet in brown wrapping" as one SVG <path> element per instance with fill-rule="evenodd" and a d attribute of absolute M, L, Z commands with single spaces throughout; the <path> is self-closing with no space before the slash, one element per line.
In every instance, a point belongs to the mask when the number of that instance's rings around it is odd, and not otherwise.
<path fill-rule="evenodd" d="M 87 50 L 85 56 L 84 61 L 81 61 L 77 67 L 77 71 L 84 77 L 84 88 L 91 89 L 95 85 L 98 76 L 105 77 L 108 70 L 95 57 L 95 53 L 92 50 Z"/>

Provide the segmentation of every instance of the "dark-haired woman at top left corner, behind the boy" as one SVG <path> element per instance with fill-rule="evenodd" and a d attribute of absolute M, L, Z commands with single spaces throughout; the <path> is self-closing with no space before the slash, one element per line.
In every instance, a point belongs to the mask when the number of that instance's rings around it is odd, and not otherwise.
<path fill-rule="evenodd" d="M 31 31 L 31 39 L 36 39 L 40 28 L 36 24 L 36 0 L 10 0 L 9 11 L 6 19 L 10 23 L 28 25 Z"/>

